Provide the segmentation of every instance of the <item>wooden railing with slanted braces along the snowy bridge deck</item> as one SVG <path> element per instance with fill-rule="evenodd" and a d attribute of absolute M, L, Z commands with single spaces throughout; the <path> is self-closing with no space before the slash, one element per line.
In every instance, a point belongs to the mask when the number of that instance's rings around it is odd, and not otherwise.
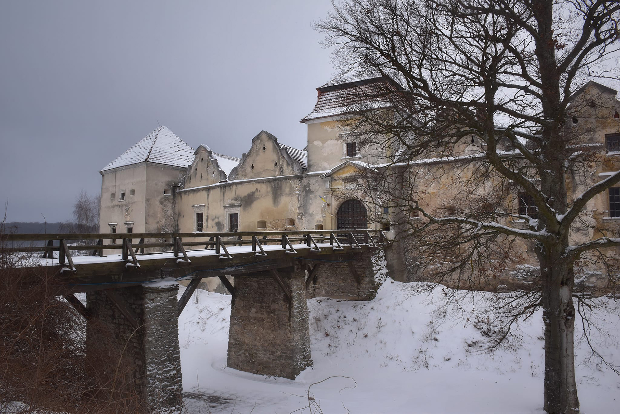
<path fill-rule="evenodd" d="M 342 249 L 342 245 L 351 245 L 354 249 L 360 244 L 383 244 L 383 231 L 374 229 L 347 229 L 347 230 L 293 230 L 293 231 L 263 231 L 263 232 L 197 232 L 197 233 L 98 233 L 98 234 L 2 234 L 6 242 L 37 242 L 46 241 L 45 246 L 22 246 L 3 249 L 4 252 L 42 252 L 44 258 L 53 258 L 53 252 L 58 252 L 59 264 L 69 266 L 75 271 L 71 250 L 92 250 L 92 255 L 104 256 L 105 250 L 121 250 L 123 260 L 131 265 L 139 266 L 136 255 L 148 255 L 165 252 L 145 253 L 144 249 L 171 248 L 179 260 L 190 262 L 186 247 L 201 246 L 200 249 L 215 250 L 221 258 L 231 258 L 226 248 L 229 246 L 251 245 L 252 252 L 266 256 L 263 245 L 279 244 L 288 253 L 296 253 L 293 244 L 306 244 L 311 250 L 321 250 L 318 244 L 329 242 L 334 249 Z M 182 242 L 182 238 L 195 239 L 191 242 Z M 245 237 L 245 238 L 244 238 Z M 133 240 L 138 239 L 138 243 Z M 154 239 L 154 242 L 147 242 Z M 198 240 L 196 240 L 198 239 Z M 55 241 L 58 240 L 58 245 Z M 68 240 L 96 240 L 93 245 L 69 245 Z M 110 243 L 105 244 L 105 240 Z M 117 240 L 120 243 L 117 243 Z M 328 241 L 329 240 L 329 241 Z M 139 252 L 139 253 L 138 253 Z"/>

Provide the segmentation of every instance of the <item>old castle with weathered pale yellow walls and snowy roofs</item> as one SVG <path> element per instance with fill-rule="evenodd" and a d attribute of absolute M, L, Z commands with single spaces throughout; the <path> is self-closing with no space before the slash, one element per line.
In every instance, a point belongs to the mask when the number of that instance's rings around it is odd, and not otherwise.
<path fill-rule="evenodd" d="M 308 126 L 308 145 L 303 150 L 260 131 L 239 159 L 213 152 L 207 144 L 192 149 L 168 128 L 159 126 L 100 170 L 100 232 L 389 229 L 394 216 L 388 208 L 368 202 L 365 194 L 343 196 L 346 192 L 342 191 L 356 172 L 394 160 L 391 148 L 361 147 L 355 131 L 345 130 L 342 122 L 352 113 L 347 103 L 351 96 L 388 84 L 389 79 L 377 77 L 332 81 L 318 87 L 314 110 L 301 120 Z M 573 94 L 573 100 L 604 101 L 596 109 L 596 105 L 579 105 L 582 122 L 578 127 L 591 131 L 585 134 L 585 143 L 600 147 L 602 162 L 586 182 L 574 183 L 575 192 L 620 170 L 620 101 L 616 94 L 596 82 L 588 82 Z M 601 114 L 601 108 L 609 113 Z M 597 113 L 588 114 L 589 110 Z M 469 147 L 464 144 L 458 151 L 467 154 L 476 149 Z M 449 161 L 414 163 L 427 177 L 419 195 L 427 208 L 454 198 L 454 180 L 466 179 L 462 170 L 456 175 L 445 174 L 445 163 Z M 433 172 L 438 169 L 443 169 L 443 174 Z M 518 189 L 507 204 L 524 214 L 530 207 Z M 620 188 L 601 194 L 588 209 L 594 221 L 620 221 Z M 521 226 L 519 222 L 513 225 Z M 523 249 L 527 251 L 528 246 Z M 406 267 L 397 263 L 405 252 L 392 253 L 392 262 Z"/>

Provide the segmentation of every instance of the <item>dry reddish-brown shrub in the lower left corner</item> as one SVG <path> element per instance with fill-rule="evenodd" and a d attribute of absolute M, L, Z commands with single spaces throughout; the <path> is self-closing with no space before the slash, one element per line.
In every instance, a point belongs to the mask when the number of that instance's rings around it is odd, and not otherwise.
<path fill-rule="evenodd" d="M 2 237 L 0 223 L 0 237 Z M 4 238 L 2 238 L 4 239 Z M 0 239 L 0 412 L 146 411 L 123 349 L 109 327 L 89 322 L 97 340 L 86 351 L 86 320 L 66 302 L 58 278 L 9 253 Z M 126 358 L 126 357 L 125 357 Z"/>

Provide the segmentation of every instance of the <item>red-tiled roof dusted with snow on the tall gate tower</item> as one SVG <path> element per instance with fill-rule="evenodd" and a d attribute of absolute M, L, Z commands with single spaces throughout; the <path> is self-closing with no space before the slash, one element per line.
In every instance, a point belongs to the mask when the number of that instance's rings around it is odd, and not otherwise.
<path fill-rule="evenodd" d="M 316 118 L 334 117 L 360 109 L 386 108 L 392 103 L 386 99 L 386 87 L 392 85 L 386 77 L 345 81 L 332 79 L 317 87 L 317 100 L 314 109 L 301 122 Z M 390 87 L 390 89 L 392 89 Z"/>

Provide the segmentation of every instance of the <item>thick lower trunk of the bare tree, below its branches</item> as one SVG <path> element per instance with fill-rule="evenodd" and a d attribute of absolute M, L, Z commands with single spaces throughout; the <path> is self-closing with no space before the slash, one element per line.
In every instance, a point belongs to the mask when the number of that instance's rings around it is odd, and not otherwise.
<path fill-rule="evenodd" d="M 544 410 L 549 414 L 578 414 L 573 346 L 573 265 L 558 254 L 546 254 L 541 258 Z"/>

